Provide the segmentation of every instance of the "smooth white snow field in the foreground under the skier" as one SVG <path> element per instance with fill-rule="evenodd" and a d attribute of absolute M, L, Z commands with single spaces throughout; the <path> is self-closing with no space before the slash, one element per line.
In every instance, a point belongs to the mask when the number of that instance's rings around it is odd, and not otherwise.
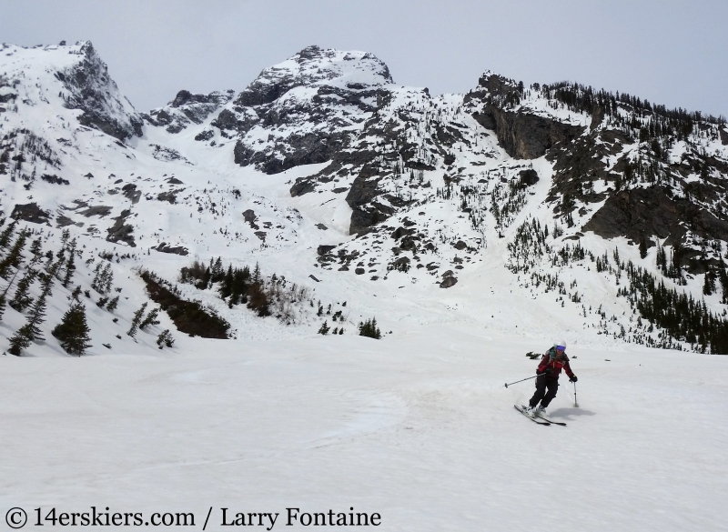
<path fill-rule="evenodd" d="M 544 342 L 413 326 L 159 356 L 0 359 L 2 507 L 355 511 L 382 530 L 719 530 L 728 358 L 569 347 L 540 427 Z M 286 529 L 301 529 L 290 527 Z"/>

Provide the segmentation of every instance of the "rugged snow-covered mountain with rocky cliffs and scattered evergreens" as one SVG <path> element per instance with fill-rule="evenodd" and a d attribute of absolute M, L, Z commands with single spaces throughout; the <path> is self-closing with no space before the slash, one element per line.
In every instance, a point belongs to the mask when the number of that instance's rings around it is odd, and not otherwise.
<path fill-rule="evenodd" d="M 26 228 L 77 257 L 48 330 L 75 286 L 109 297 L 95 268 L 111 266 L 129 299 L 87 307 L 92 353 L 139 342 L 112 331 L 150 296 L 167 310 L 155 334 L 205 336 L 197 311 L 239 339 L 357 334 L 376 316 L 392 334 L 464 321 L 728 353 L 726 177 L 723 119 L 582 85 L 486 72 L 435 96 L 374 55 L 309 46 L 239 92 L 181 90 L 138 113 L 90 43 L 0 55 L 0 231 L 18 221 L 3 256 Z M 8 300 L 41 271 L 22 253 Z M 228 266 L 258 288 L 235 292 Z M 184 301 L 197 310 L 169 310 Z M 28 308 L 5 309 L 0 349 Z M 45 335 L 25 353 L 63 350 Z"/>

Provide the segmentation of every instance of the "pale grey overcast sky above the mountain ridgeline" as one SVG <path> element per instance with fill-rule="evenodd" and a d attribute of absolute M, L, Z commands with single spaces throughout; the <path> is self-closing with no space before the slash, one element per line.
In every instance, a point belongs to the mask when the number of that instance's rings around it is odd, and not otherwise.
<path fill-rule="evenodd" d="M 728 115 L 727 23 L 724 0 L 0 0 L 0 42 L 91 40 L 140 111 L 239 91 L 319 45 L 372 52 L 433 94 L 490 69 Z"/>

